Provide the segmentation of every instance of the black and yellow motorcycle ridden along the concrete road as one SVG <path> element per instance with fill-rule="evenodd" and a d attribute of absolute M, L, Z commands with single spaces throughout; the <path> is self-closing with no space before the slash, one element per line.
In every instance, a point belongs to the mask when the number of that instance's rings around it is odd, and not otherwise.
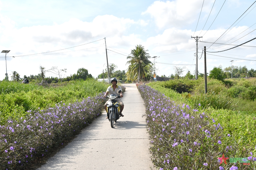
<path fill-rule="evenodd" d="M 118 94 L 119 93 L 121 93 L 121 90 L 118 91 Z M 111 99 L 107 103 L 107 117 L 111 127 L 114 127 L 114 122 L 117 122 L 117 120 L 121 117 L 119 115 L 121 106 L 118 101 L 115 100 L 116 98 L 120 98 L 120 95 L 111 94 L 110 96 L 106 96 L 106 98 Z"/>

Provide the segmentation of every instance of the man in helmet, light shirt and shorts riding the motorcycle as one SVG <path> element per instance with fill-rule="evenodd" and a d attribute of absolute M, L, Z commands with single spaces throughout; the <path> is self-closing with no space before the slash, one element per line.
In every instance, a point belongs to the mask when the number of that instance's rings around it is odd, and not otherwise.
<path fill-rule="evenodd" d="M 112 78 L 111 79 L 111 86 L 109 86 L 107 88 L 107 91 L 105 93 L 105 95 L 103 97 L 106 97 L 108 94 L 115 94 L 115 95 L 118 95 L 118 91 L 121 90 L 121 93 L 120 93 L 120 97 L 124 97 L 123 96 L 123 92 L 122 92 L 122 88 L 121 86 L 117 86 L 117 79 L 116 78 Z M 110 100 L 110 99 L 109 99 Z M 116 101 L 118 101 L 118 103 L 121 105 L 121 108 L 120 108 L 120 113 L 119 115 L 124 117 L 124 115 L 122 114 L 122 111 L 124 110 L 124 103 L 122 102 L 122 100 L 120 98 L 116 98 L 115 99 Z M 108 101 L 107 101 L 108 102 Z M 105 103 L 105 110 L 107 112 L 107 102 Z M 107 119 L 107 118 L 106 118 Z"/>

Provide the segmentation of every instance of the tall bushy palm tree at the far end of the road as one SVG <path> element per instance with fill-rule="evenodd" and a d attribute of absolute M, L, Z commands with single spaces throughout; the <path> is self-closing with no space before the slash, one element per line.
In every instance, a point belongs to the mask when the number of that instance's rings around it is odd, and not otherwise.
<path fill-rule="evenodd" d="M 144 78 L 145 80 L 145 71 L 146 66 L 152 62 L 148 59 L 151 58 L 148 50 L 145 50 L 142 45 L 135 46 L 135 49 L 131 50 L 131 54 L 127 57 L 129 61 L 126 64 L 130 64 L 127 69 L 127 79 L 131 81 L 136 81 L 139 83 L 139 79 Z"/>

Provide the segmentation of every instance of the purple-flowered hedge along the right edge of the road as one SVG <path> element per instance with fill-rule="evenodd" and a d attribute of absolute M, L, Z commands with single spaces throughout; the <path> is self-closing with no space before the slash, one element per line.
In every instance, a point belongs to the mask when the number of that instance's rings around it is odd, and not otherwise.
<path fill-rule="evenodd" d="M 255 150 L 240 146 L 223 135 L 220 124 L 188 105 L 179 106 L 164 94 L 146 85 L 138 89 L 145 102 L 150 152 L 154 166 L 164 169 L 251 169 L 255 168 Z M 198 104 L 200 105 L 200 104 Z M 256 148 L 255 148 L 256 149 Z M 252 152 L 250 152 L 252 151 Z M 250 165 L 222 163 L 225 157 L 248 157 Z"/>

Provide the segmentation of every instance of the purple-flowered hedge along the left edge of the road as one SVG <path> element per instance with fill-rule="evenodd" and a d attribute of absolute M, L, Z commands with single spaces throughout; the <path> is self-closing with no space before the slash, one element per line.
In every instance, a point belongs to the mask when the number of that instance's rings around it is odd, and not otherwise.
<path fill-rule="evenodd" d="M 27 169 L 70 140 L 102 113 L 104 93 L 73 104 L 28 111 L 0 126 L 0 169 Z"/>

